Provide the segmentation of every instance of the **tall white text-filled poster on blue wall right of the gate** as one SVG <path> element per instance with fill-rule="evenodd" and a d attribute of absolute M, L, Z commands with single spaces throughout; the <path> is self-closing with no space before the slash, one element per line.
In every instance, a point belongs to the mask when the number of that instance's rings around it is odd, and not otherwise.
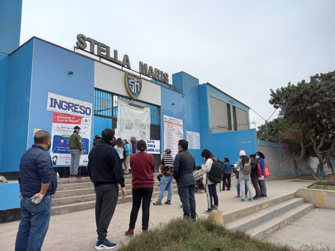
<path fill-rule="evenodd" d="M 178 153 L 178 141 L 184 139 L 183 120 L 164 115 L 164 150 L 171 149 L 172 157 Z"/>

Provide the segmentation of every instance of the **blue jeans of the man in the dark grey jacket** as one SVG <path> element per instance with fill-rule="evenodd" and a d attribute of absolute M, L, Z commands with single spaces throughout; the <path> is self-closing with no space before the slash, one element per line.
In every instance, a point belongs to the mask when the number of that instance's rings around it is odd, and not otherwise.
<path fill-rule="evenodd" d="M 178 195 L 180 201 L 183 204 L 184 217 L 195 219 L 196 214 L 196 202 L 195 202 L 195 184 L 178 187 Z"/>

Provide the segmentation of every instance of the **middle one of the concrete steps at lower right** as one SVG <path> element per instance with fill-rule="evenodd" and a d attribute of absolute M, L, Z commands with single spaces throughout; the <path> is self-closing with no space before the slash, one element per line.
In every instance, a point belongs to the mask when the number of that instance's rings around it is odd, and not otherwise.
<path fill-rule="evenodd" d="M 247 231 L 251 227 L 257 226 L 262 222 L 271 220 L 279 215 L 285 213 L 286 211 L 299 206 L 304 203 L 301 198 L 294 198 L 280 204 L 276 204 L 253 213 L 252 215 L 247 215 L 240 219 L 233 220 L 226 224 L 226 227 L 233 231 Z"/>

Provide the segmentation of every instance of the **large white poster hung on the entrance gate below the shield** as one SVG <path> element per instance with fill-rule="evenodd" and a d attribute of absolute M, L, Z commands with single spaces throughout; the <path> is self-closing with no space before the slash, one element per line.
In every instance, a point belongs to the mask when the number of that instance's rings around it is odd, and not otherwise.
<path fill-rule="evenodd" d="M 117 131 L 122 140 L 135 137 L 137 141 L 150 139 L 150 107 L 119 98 L 117 104 Z"/>

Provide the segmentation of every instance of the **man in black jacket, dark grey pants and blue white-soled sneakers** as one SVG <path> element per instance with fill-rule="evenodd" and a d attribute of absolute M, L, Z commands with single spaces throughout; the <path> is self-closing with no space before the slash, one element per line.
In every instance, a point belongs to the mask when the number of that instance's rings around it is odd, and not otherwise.
<path fill-rule="evenodd" d="M 117 244 L 106 239 L 107 229 L 112 220 L 118 197 L 118 184 L 123 197 L 127 195 L 120 157 L 111 146 L 114 138 L 112 129 L 102 131 L 101 141 L 88 155 L 87 171 L 94 183 L 96 193 L 95 218 L 98 241 L 96 250 L 114 249 Z"/>

